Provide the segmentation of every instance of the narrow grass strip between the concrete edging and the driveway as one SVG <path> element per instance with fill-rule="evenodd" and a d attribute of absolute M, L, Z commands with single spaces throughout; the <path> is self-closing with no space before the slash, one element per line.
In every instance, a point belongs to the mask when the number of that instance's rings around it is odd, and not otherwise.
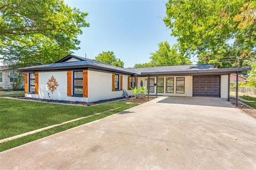
<path fill-rule="evenodd" d="M 119 102 L 119 103 L 121 103 L 121 102 Z M 0 143 L 0 152 L 4 151 L 4 150 L 7 150 L 7 149 L 17 147 L 17 146 L 20 146 L 20 145 L 23 145 L 23 144 L 31 142 L 31 141 L 35 141 L 37 139 L 47 137 L 47 136 L 52 135 L 54 133 L 65 131 L 65 130 L 68 130 L 70 128 L 74 128 L 76 126 L 79 126 L 79 125 L 82 125 L 82 124 L 85 124 L 85 123 L 89 123 L 89 122 L 92 122 L 92 121 L 95 121 L 95 120 L 99 120 L 100 118 L 113 115 L 115 113 L 124 111 L 125 109 L 131 108 L 131 107 L 134 107 L 134 106 L 137 106 L 137 105 L 138 104 L 122 104 L 121 108 L 118 108 L 114 111 L 109 111 L 109 112 L 106 112 L 106 113 L 102 113 L 100 115 L 84 118 L 82 120 L 67 123 L 67 124 L 64 124 L 64 125 L 61 125 L 61 126 L 57 126 L 55 128 L 49 129 L 49 130 L 45 130 L 45 131 L 42 131 L 42 132 L 30 134 L 30 135 L 27 135 L 26 137 L 22 137 L 22 138 L 15 139 L 15 140 L 12 140 L 12 141 Z M 95 106 L 93 106 L 93 107 L 95 107 Z"/>

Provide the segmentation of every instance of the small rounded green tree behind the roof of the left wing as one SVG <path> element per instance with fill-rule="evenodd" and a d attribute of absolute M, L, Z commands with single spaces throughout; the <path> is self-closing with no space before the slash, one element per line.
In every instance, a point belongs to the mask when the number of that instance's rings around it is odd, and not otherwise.
<path fill-rule="evenodd" d="M 94 59 L 95 61 L 111 64 L 118 67 L 124 67 L 124 62 L 116 58 L 114 52 L 102 52 Z"/>

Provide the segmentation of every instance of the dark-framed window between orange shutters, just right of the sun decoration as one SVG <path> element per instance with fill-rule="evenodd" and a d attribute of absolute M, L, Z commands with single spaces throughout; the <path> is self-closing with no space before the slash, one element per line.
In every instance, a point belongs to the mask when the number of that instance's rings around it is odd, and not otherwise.
<path fill-rule="evenodd" d="M 83 96 L 83 71 L 73 72 L 73 96 Z"/>

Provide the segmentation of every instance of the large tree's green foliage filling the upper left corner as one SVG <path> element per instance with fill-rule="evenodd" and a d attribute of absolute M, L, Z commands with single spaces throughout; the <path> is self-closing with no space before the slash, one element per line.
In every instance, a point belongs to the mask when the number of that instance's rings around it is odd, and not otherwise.
<path fill-rule="evenodd" d="M 87 13 L 63 0 L 0 1 L 0 55 L 6 65 L 48 64 L 79 49 Z"/>

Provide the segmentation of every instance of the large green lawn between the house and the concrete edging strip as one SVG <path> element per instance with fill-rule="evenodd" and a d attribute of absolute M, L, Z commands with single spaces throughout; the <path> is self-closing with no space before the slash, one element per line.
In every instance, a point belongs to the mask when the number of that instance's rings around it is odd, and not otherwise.
<path fill-rule="evenodd" d="M 35 101 L 0 99 L 0 139 L 73 120 L 78 117 L 121 107 L 115 111 L 116 113 L 136 105 L 137 104 L 115 102 L 83 107 L 48 104 Z"/>

